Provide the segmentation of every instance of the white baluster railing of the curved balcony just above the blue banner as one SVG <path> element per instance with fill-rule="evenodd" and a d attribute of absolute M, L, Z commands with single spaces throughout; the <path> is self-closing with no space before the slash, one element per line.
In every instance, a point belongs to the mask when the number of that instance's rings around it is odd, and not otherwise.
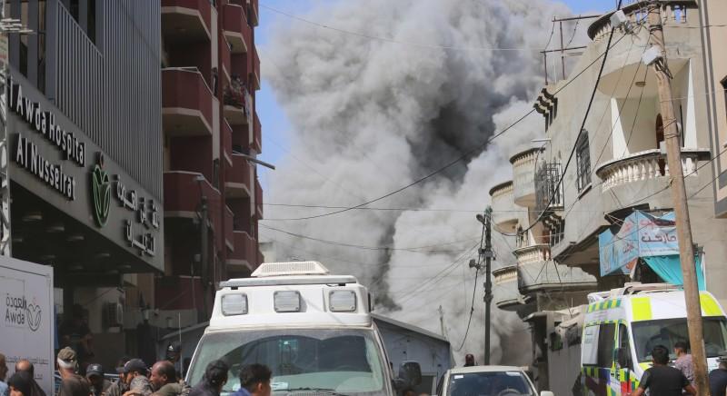
<path fill-rule="evenodd" d="M 709 158 L 709 149 L 682 149 L 684 176 L 696 176 L 697 163 Z M 606 192 L 622 184 L 668 177 L 670 173 L 666 155 L 661 150 L 653 149 L 602 163 L 596 168 L 596 174 L 603 180 L 601 188 Z"/>

